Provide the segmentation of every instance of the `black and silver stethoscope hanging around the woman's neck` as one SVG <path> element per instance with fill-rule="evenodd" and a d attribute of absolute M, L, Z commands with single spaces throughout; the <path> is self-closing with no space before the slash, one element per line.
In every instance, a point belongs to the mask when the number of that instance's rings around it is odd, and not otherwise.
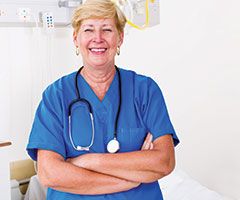
<path fill-rule="evenodd" d="M 114 137 L 112 140 L 110 140 L 107 144 L 107 150 L 109 153 L 116 153 L 119 149 L 120 149 L 120 143 L 117 140 L 117 125 L 118 125 L 118 118 L 119 118 L 119 113 L 121 110 L 121 101 L 122 101 L 122 91 L 121 91 L 121 76 L 120 76 L 120 72 L 117 66 L 115 66 L 116 71 L 117 71 L 117 75 L 118 75 L 118 89 L 119 89 L 119 104 L 118 104 L 118 110 L 117 110 L 117 116 L 116 116 L 116 120 L 115 120 L 115 126 L 114 126 Z M 79 92 L 79 88 L 78 88 L 78 75 L 81 73 L 83 67 L 81 67 L 78 71 L 77 74 L 75 76 L 75 89 L 76 89 L 76 95 L 77 98 L 74 99 L 68 106 L 68 133 L 69 133 L 69 138 L 70 138 L 70 142 L 72 147 L 77 150 L 77 151 L 89 151 L 90 147 L 93 145 L 94 142 L 94 137 L 95 137 L 95 130 L 94 130 L 94 117 L 93 117 L 93 110 L 92 110 L 92 106 L 89 103 L 88 100 L 81 98 L 80 96 L 80 92 Z M 89 111 L 89 115 L 90 115 L 90 119 L 91 119 L 91 125 L 92 125 L 92 139 L 89 145 L 87 146 L 80 146 L 80 145 L 75 145 L 73 142 L 73 138 L 72 138 L 72 123 L 71 123 L 71 108 L 73 107 L 73 105 L 75 105 L 76 103 L 84 103 L 85 105 L 87 105 L 88 111 Z"/>

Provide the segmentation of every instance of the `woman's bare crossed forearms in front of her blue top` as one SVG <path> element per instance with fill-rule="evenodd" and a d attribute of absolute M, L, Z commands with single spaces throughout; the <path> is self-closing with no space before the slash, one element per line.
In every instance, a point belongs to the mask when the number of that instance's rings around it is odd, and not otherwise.
<path fill-rule="evenodd" d="M 38 150 L 41 183 L 55 190 L 83 195 L 127 191 L 166 176 L 174 166 L 171 135 L 152 142 L 149 133 L 139 151 L 89 153 L 68 160 L 53 151 Z"/>

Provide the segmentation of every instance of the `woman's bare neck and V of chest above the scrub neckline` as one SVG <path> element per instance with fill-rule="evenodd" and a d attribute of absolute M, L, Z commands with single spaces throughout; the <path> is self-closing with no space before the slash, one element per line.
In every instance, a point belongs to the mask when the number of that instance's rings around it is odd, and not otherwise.
<path fill-rule="evenodd" d="M 102 101 L 112 83 L 115 71 L 115 67 L 105 70 L 92 70 L 88 67 L 84 67 L 81 71 L 81 75 L 90 85 L 97 97 Z"/>

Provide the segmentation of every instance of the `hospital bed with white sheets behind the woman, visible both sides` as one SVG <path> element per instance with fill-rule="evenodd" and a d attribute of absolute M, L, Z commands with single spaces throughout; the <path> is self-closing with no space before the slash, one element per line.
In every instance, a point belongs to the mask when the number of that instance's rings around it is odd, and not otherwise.
<path fill-rule="evenodd" d="M 25 162 L 30 164 L 29 162 L 31 161 Z M 31 170 L 33 166 L 33 164 L 30 164 Z M 25 195 L 23 195 L 22 192 L 20 192 L 20 188 L 18 188 L 19 185 L 21 186 L 19 183 L 24 182 L 24 180 L 26 181 L 27 179 L 23 179 L 23 181 L 11 180 L 12 200 L 46 199 L 47 189 L 40 184 L 36 174 L 30 177 Z M 235 200 L 204 187 L 180 169 L 175 169 L 170 175 L 160 179 L 159 183 L 164 200 Z M 18 192 L 16 192 L 17 190 Z M 13 194 L 14 192 L 15 194 Z"/>

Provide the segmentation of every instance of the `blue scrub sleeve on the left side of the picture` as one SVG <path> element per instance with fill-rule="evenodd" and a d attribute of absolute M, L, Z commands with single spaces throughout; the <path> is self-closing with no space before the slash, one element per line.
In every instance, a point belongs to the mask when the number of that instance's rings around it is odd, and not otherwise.
<path fill-rule="evenodd" d="M 37 160 L 38 149 L 54 151 L 66 157 L 61 94 L 55 86 L 49 86 L 43 93 L 27 145 L 27 152 L 33 160 Z"/>

